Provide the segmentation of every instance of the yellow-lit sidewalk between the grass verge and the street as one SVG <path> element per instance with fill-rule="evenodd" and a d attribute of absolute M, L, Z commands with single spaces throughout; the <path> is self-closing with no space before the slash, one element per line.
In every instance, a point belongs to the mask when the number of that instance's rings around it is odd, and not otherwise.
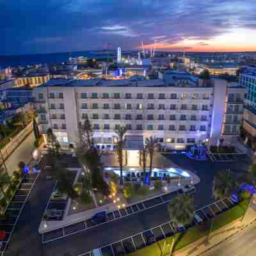
<path fill-rule="evenodd" d="M 199 239 L 195 243 L 186 246 L 184 249 L 179 250 L 178 252 L 173 253 L 175 256 L 198 256 L 204 255 L 208 250 L 211 250 L 212 247 L 217 246 L 223 241 L 226 241 L 229 237 L 234 236 L 237 232 L 246 228 L 246 226 L 253 223 L 256 220 L 256 212 L 252 207 L 249 207 L 244 220 L 241 223 L 240 219 L 234 221 L 233 223 L 222 227 L 215 232 L 212 232 L 210 235 L 209 241 L 206 237 Z"/>

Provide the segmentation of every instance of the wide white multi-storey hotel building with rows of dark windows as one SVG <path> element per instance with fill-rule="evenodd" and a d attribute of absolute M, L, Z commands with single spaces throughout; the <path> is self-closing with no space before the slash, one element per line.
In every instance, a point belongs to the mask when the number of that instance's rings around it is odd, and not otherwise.
<path fill-rule="evenodd" d="M 33 101 L 41 131 L 51 127 L 62 145 L 77 143 L 79 125 L 88 116 L 100 147 L 112 147 L 116 129 L 126 125 L 127 135 L 155 136 L 163 147 L 181 149 L 202 141 L 216 144 L 223 134 L 227 83 L 198 84 L 52 79 L 33 90 Z"/>

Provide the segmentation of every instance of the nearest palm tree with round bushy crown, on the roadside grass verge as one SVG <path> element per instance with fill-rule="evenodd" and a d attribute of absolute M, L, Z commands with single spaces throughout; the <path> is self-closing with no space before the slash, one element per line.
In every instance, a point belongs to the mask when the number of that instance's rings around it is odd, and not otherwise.
<path fill-rule="evenodd" d="M 195 204 L 194 197 L 192 195 L 177 195 L 175 198 L 168 204 L 168 213 L 170 215 L 170 220 L 175 221 L 177 225 L 188 225 L 190 224 L 195 217 Z M 178 240 L 184 236 L 184 232 L 181 233 L 177 239 L 173 237 L 172 247 L 170 250 L 170 255 L 175 248 Z"/>

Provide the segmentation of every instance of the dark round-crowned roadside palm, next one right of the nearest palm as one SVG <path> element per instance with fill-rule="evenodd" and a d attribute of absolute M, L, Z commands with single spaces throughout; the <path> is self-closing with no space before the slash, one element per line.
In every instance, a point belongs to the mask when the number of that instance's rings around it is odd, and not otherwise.
<path fill-rule="evenodd" d="M 225 170 L 216 173 L 212 183 L 212 195 L 214 196 L 215 200 L 220 200 L 221 198 L 229 196 L 234 188 L 236 188 L 236 184 L 232 179 L 232 175 L 230 174 L 230 172 Z M 213 225 L 214 216 L 211 221 L 211 227 L 207 239 L 209 239 Z"/>

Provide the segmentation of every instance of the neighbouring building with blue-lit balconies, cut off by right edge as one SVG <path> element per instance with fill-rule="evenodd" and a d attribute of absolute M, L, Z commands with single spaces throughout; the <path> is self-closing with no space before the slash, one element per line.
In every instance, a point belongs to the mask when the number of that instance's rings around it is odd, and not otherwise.
<path fill-rule="evenodd" d="M 248 136 L 256 137 L 256 68 L 246 68 L 239 75 L 239 84 L 246 88 L 243 128 Z"/>

